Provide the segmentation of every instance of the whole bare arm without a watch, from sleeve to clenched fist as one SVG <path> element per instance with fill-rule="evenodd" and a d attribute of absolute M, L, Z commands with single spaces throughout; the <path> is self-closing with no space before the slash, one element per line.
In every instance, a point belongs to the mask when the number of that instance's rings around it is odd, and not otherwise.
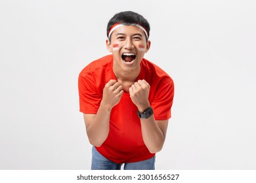
<path fill-rule="evenodd" d="M 94 146 L 101 146 L 108 137 L 110 112 L 119 103 L 122 95 L 123 88 L 119 82 L 110 80 L 104 87 L 98 112 L 83 114 L 88 139 Z"/>

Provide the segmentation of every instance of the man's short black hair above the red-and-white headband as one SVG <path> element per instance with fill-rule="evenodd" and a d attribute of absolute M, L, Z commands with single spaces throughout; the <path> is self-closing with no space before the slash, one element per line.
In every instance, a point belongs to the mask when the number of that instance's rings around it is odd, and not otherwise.
<path fill-rule="evenodd" d="M 115 14 L 108 22 L 108 26 L 106 29 L 107 37 L 110 31 L 110 28 L 117 23 L 122 23 L 124 25 L 139 24 L 142 27 L 144 27 L 144 29 L 146 29 L 148 33 L 148 37 L 150 35 L 150 24 L 142 15 L 140 15 L 137 12 L 124 11 L 124 12 L 119 12 Z M 146 37 L 146 41 L 148 41 L 148 37 Z M 111 39 L 111 35 L 109 39 Z"/>

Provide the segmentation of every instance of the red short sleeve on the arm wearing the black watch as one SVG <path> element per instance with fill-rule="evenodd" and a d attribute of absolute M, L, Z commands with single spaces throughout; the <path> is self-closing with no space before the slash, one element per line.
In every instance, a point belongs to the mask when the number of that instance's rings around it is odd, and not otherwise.
<path fill-rule="evenodd" d="M 171 107 L 173 105 L 174 84 L 173 80 L 169 78 L 165 82 L 158 84 L 157 91 L 151 106 L 154 110 L 154 117 L 156 120 L 168 120 L 171 118 Z"/>

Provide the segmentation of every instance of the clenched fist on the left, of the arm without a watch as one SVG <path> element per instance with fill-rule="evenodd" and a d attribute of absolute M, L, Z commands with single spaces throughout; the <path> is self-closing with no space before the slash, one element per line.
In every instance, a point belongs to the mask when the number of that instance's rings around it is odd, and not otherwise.
<path fill-rule="evenodd" d="M 117 103 L 119 103 L 123 95 L 123 86 L 116 80 L 110 80 L 106 83 L 103 89 L 102 103 L 104 107 L 111 110 Z"/>

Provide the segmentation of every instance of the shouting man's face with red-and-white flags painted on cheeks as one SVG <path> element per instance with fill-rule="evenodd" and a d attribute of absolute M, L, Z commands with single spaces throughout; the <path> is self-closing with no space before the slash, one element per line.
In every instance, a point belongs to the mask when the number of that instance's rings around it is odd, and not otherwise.
<path fill-rule="evenodd" d="M 130 73 L 140 69 L 140 61 L 150 48 L 144 31 L 134 25 L 123 25 L 115 29 L 107 48 L 114 57 L 114 70 Z"/>

